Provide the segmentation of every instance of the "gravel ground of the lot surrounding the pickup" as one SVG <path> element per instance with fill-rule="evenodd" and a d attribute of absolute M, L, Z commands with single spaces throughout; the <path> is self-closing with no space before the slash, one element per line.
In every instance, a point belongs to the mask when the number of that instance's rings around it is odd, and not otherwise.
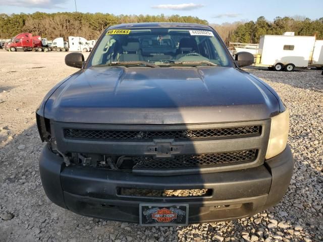
<path fill-rule="evenodd" d="M 322 241 L 323 76 L 246 69 L 265 80 L 291 110 L 295 169 L 287 195 L 253 217 L 188 227 L 140 227 L 76 215 L 45 196 L 35 126 L 45 93 L 76 69 L 66 53 L 0 51 L 0 241 Z"/>

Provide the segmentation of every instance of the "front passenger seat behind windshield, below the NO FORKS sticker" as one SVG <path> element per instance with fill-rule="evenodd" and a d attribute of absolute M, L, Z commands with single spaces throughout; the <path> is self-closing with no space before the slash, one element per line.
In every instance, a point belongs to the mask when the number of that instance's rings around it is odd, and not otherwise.
<path fill-rule="evenodd" d="M 127 45 L 123 45 L 122 49 L 122 54 L 120 54 L 119 57 L 120 62 L 136 62 L 143 60 L 138 39 L 129 39 Z"/>

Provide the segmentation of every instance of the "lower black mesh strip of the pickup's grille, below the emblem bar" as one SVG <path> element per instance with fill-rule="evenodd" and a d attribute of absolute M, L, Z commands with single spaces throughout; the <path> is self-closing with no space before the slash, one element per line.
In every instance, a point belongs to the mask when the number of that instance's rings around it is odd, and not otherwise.
<path fill-rule="evenodd" d="M 134 157 L 133 169 L 180 168 L 203 165 L 231 164 L 235 162 L 251 162 L 256 159 L 257 150 L 243 150 L 230 153 L 178 155 L 174 158 L 156 158 L 149 156 Z"/>

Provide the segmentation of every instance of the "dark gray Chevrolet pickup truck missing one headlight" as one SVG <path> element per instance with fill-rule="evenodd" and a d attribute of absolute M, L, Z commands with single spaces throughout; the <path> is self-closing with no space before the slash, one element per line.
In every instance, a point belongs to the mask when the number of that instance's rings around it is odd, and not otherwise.
<path fill-rule="evenodd" d="M 107 28 L 36 112 L 42 186 L 84 216 L 143 226 L 239 219 L 278 203 L 294 161 L 289 111 L 216 31 Z"/>

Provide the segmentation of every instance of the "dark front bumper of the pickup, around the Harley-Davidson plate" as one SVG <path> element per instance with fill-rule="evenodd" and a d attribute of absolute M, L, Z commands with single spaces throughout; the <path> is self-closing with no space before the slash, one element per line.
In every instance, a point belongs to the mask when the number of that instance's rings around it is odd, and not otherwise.
<path fill-rule="evenodd" d="M 186 203 L 189 223 L 251 216 L 278 203 L 286 193 L 294 161 L 289 146 L 258 167 L 217 173 L 142 176 L 89 167 L 66 167 L 47 146 L 39 169 L 47 197 L 75 213 L 139 223 L 140 203 Z M 211 189 L 206 197 L 137 197 L 119 188 L 185 190 Z"/>

